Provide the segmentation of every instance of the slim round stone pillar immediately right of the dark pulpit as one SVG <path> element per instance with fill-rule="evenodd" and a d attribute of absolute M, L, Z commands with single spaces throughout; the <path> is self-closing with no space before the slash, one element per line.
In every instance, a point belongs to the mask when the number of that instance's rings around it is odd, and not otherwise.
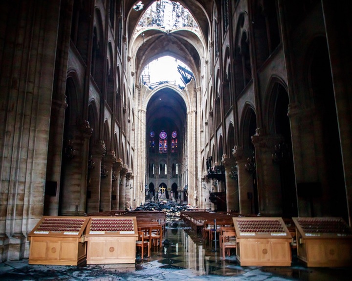
<path fill-rule="evenodd" d="M 222 157 L 222 165 L 225 167 L 225 183 L 226 183 L 226 208 L 227 212 L 238 212 L 239 206 L 239 186 L 237 175 L 232 175 L 236 166 L 236 161 L 233 158 L 228 158 L 225 154 Z"/>

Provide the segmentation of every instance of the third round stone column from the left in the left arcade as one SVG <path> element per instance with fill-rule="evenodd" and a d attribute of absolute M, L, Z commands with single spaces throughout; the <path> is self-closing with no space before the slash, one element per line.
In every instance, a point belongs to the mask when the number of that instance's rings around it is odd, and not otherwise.
<path fill-rule="evenodd" d="M 110 151 L 103 158 L 100 187 L 100 210 L 103 212 L 111 210 L 112 165 L 115 161 L 116 156 L 114 151 Z"/>

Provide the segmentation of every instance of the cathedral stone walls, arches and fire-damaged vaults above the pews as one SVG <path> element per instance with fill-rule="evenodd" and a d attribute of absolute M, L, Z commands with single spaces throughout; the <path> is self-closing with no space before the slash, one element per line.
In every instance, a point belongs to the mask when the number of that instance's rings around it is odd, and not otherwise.
<path fill-rule="evenodd" d="M 43 216 L 149 201 L 351 226 L 351 13 L 332 0 L 1 1 L 1 261 L 28 258 Z M 180 82 L 152 80 L 164 57 Z"/>

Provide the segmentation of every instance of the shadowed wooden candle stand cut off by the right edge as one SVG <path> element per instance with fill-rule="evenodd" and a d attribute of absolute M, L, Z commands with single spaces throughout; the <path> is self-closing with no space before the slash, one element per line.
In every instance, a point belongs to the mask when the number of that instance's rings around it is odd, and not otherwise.
<path fill-rule="evenodd" d="M 292 218 L 297 257 L 308 267 L 352 266 L 352 230 L 342 218 Z"/>

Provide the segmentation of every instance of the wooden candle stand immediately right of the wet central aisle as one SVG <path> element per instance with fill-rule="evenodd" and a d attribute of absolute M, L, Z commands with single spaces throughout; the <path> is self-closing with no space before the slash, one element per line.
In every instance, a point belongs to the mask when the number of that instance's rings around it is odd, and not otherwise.
<path fill-rule="evenodd" d="M 292 240 L 282 218 L 233 218 L 242 266 L 290 266 Z"/>

